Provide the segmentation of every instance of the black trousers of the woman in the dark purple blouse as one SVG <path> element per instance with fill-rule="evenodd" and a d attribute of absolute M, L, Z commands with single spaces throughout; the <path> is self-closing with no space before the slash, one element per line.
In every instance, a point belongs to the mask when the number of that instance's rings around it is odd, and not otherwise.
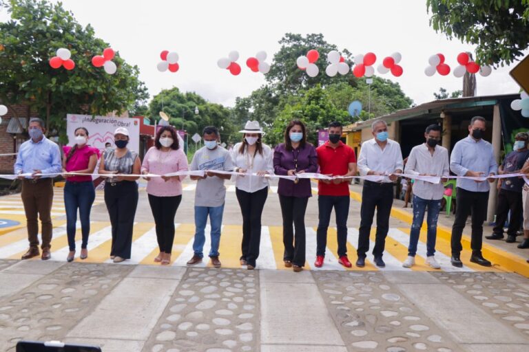
<path fill-rule="evenodd" d="M 305 265 L 305 211 L 309 197 L 279 195 L 279 203 L 283 217 L 283 260 L 302 267 Z"/>

